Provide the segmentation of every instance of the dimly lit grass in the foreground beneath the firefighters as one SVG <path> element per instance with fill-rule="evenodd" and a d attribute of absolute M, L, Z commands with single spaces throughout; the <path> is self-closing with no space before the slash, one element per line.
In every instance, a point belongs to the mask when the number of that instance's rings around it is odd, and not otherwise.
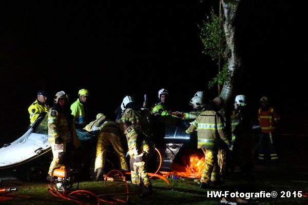
<path fill-rule="evenodd" d="M 256 171 L 256 182 L 247 184 L 240 180 L 239 173 L 230 175 L 226 183 L 218 187 L 209 187 L 207 190 L 199 189 L 197 181 L 192 179 L 168 179 L 170 187 L 166 189 L 166 183 L 161 179 L 152 179 L 154 193 L 147 198 L 139 198 L 137 194 L 129 196 L 128 204 L 220 204 L 222 197 L 207 197 L 208 191 L 229 191 L 229 192 L 272 192 L 278 193 L 277 198 L 258 198 L 260 204 L 308 204 L 307 197 L 285 197 L 281 198 L 281 192 L 303 191 L 308 192 L 308 173 L 306 170 L 295 172 L 292 168 L 283 167 Z M 74 202 L 52 196 L 47 190 L 47 182 L 5 182 L 7 187 L 16 187 L 18 191 L 12 196 L 13 199 L 0 201 L 1 204 L 75 204 Z M 124 193 L 123 185 L 106 187 L 102 181 L 84 181 L 80 183 L 79 189 L 88 190 L 95 194 Z M 129 192 L 138 192 L 137 187 L 129 186 Z M 123 196 L 122 196 L 123 198 Z M 1 200 L 1 197 L 0 197 Z M 93 203 L 92 203 L 93 204 Z M 101 203 L 103 204 L 103 203 Z M 107 203 L 104 203 L 107 204 Z"/>

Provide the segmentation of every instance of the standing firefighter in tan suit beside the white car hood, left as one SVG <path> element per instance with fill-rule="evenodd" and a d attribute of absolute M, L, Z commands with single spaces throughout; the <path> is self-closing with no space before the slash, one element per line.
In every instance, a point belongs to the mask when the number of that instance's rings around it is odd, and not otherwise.
<path fill-rule="evenodd" d="M 68 154 L 73 149 L 81 148 L 73 116 L 70 113 L 67 94 L 64 91 L 57 92 L 54 105 L 48 114 L 48 141 L 53 154 L 48 172 L 49 177 L 53 168 L 60 167 L 68 162 Z"/>

